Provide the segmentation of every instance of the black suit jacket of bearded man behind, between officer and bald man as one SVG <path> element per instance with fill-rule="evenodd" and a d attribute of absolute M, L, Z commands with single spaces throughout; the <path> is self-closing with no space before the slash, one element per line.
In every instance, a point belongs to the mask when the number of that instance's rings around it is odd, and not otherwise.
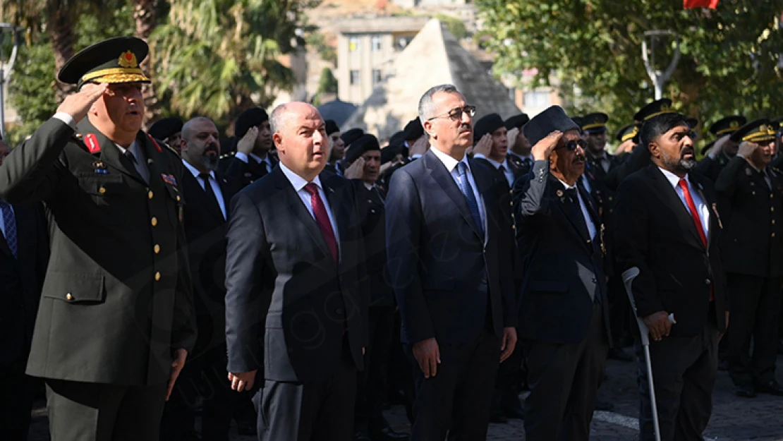
<path fill-rule="evenodd" d="M 217 171 L 215 180 L 220 187 L 228 216 L 231 199 L 240 190 L 240 183 Z M 206 195 L 200 180 L 188 169 L 184 170 L 182 196 L 186 202 L 185 237 L 198 325 L 193 356 L 226 341 L 226 233 L 229 223 L 223 218 L 220 207 L 209 203 Z"/>

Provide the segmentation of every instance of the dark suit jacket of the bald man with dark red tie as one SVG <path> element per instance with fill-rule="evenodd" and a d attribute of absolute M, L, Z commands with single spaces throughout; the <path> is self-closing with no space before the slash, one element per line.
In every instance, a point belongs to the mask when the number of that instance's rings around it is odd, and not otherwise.
<path fill-rule="evenodd" d="M 324 380 L 340 369 L 345 338 L 363 366 L 367 301 L 355 194 L 346 179 L 328 172 L 320 179 L 337 222 L 340 262 L 280 167 L 231 202 L 229 372 L 262 367 L 271 381 Z"/>

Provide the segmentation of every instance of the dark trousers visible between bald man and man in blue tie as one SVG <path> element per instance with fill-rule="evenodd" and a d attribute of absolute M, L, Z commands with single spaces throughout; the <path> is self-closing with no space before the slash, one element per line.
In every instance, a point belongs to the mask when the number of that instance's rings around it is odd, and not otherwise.
<path fill-rule="evenodd" d="M 384 401 L 394 330 L 394 306 L 370 306 L 370 345 L 364 354 L 364 371 L 356 384 L 355 430 L 364 433 L 386 427 Z"/>

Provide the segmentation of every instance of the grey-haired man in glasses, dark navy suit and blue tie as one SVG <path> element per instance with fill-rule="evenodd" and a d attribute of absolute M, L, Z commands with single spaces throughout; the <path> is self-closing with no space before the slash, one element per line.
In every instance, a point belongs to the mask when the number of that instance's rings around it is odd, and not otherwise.
<path fill-rule="evenodd" d="M 414 440 L 484 439 L 495 375 L 516 344 L 511 228 L 493 172 L 468 160 L 475 107 L 453 85 L 421 97 L 431 148 L 386 201 L 401 339 L 417 368 Z"/>

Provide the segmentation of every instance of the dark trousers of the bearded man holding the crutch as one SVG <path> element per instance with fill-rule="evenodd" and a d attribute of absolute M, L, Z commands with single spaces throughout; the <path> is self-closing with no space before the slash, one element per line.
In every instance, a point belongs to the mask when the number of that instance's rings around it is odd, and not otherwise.
<path fill-rule="evenodd" d="M 714 320 L 713 320 L 714 321 Z M 640 342 L 639 360 L 639 432 L 641 441 L 652 441 L 652 406 L 647 367 Z M 664 337 L 650 340 L 652 377 L 662 441 L 703 439 L 713 412 L 713 386 L 718 363 L 718 330 L 705 326 L 695 337 Z"/>

